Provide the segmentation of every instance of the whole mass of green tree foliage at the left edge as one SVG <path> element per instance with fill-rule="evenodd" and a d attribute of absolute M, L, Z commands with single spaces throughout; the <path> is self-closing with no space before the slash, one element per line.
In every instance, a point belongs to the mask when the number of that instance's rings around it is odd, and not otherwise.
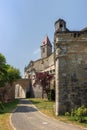
<path fill-rule="evenodd" d="M 6 63 L 6 58 L 0 53 L 0 87 L 5 86 L 6 82 L 13 83 L 20 79 L 20 71 L 17 68 Z"/>

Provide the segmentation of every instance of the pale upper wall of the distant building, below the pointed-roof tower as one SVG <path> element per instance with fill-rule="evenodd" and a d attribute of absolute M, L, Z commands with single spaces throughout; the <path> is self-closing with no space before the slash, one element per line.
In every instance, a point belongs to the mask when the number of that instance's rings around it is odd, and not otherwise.
<path fill-rule="evenodd" d="M 52 53 L 49 57 L 39 59 L 37 61 L 33 61 L 32 64 L 29 65 L 25 69 L 25 78 L 29 78 L 33 72 L 45 72 L 45 71 L 54 71 L 54 53 Z"/>

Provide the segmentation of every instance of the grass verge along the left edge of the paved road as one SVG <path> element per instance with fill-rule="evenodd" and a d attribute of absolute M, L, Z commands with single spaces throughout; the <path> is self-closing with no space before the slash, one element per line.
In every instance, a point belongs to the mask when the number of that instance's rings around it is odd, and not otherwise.
<path fill-rule="evenodd" d="M 4 104 L 4 112 L 0 114 L 0 130 L 12 130 L 10 126 L 9 117 L 14 108 L 16 108 L 18 100 Z"/>

